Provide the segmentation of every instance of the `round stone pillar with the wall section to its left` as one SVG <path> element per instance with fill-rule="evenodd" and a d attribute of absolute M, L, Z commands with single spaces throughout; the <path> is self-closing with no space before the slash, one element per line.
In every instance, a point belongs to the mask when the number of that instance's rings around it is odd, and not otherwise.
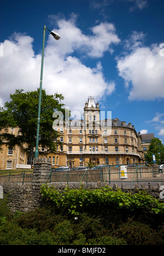
<path fill-rule="evenodd" d="M 3 187 L 3 196 L 8 196 L 8 205 L 11 212 L 28 212 L 43 205 L 40 186 L 45 183 L 51 170 L 51 164 L 46 158 L 39 158 L 34 163 L 31 183 L 0 182 Z"/>

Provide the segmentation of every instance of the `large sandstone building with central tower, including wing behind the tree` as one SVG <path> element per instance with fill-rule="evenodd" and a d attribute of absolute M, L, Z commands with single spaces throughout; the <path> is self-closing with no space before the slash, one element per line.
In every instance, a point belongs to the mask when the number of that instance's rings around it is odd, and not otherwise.
<path fill-rule="evenodd" d="M 112 119 L 110 113 L 102 118 L 94 97 L 88 97 L 84 106 L 83 119 L 69 119 L 54 126 L 60 133 L 61 146 L 55 154 L 47 152 L 43 146 L 39 156 L 51 159 L 52 167 L 86 166 L 88 162 L 97 165 L 129 165 L 144 161 L 142 137 L 131 123 L 126 124 L 118 118 Z M 10 132 L 16 132 L 11 130 Z M 6 147 L 0 152 L 0 170 L 16 168 L 17 164 L 28 164 L 23 147 Z"/>

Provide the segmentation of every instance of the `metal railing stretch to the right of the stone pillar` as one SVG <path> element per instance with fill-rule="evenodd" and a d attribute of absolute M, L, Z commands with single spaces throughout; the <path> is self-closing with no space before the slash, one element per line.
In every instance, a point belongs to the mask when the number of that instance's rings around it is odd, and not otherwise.
<path fill-rule="evenodd" d="M 153 166 L 136 165 L 135 167 L 127 167 L 125 171 L 126 178 L 122 177 L 121 165 L 107 166 L 106 168 L 99 168 L 92 170 L 87 168 L 83 171 L 65 171 L 65 172 L 54 172 L 51 170 L 45 183 L 63 182 L 69 184 L 71 182 L 104 182 L 104 183 L 119 183 L 128 182 L 132 187 L 133 182 L 164 182 L 164 172 L 160 173 L 158 168 Z"/>

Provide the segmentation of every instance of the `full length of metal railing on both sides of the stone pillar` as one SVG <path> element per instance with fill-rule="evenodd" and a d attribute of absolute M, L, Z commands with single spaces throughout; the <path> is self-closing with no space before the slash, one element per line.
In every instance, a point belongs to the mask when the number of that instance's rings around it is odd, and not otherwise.
<path fill-rule="evenodd" d="M 164 182 L 164 170 L 159 172 L 159 168 L 153 166 L 145 166 L 145 164 L 138 164 L 133 167 L 127 167 L 122 177 L 121 165 L 108 165 L 106 168 L 91 169 L 85 168 L 78 171 L 60 171 L 55 172 L 51 168 L 50 173 L 46 177 L 45 183 L 90 183 L 102 182 L 106 184 L 111 183 L 130 183 L 130 188 L 134 182 Z M 33 170 L 16 171 L 10 170 L 0 171 L 0 182 L 9 183 L 31 183 L 33 180 Z"/>

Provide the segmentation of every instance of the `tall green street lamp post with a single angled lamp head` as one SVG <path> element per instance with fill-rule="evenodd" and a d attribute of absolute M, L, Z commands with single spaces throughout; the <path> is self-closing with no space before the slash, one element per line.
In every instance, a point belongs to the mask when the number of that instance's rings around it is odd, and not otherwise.
<path fill-rule="evenodd" d="M 38 121 L 37 121 L 37 139 L 36 139 L 36 150 L 34 153 L 34 159 L 38 158 L 39 156 L 39 129 L 40 129 L 40 110 L 41 110 L 41 100 L 42 100 L 42 80 L 43 80 L 43 62 L 44 62 L 44 45 L 45 45 L 45 30 L 50 31 L 46 26 L 44 25 L 43 28 L 43 47 L 42 47 L 42 62 L 41 62 L 41 71 L 40 71 L 40 88 L 39 88 L 39 104 L 38 104 Z M 54 31 L 50 31 L 50 34 L 58 40 L 60 39 L 59 34 L 55 33 Z"/>

